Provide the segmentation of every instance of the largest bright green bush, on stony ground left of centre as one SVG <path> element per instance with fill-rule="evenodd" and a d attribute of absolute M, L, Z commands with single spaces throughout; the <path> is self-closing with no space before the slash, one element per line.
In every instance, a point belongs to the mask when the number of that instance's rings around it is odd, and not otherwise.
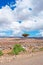
<path fill-rule="evenodd" d="M 18 55 L 20 52 L 24 52 L 25 49 L 20 45 L 20 44 L 15 44 L 12 51 L 8 54 L 11 54 L 11 55 Z"/>

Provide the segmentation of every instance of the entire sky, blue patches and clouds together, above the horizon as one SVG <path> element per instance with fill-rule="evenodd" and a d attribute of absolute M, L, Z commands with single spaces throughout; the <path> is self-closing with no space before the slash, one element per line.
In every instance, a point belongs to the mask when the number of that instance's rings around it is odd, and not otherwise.
<path fill-rule="evenodd" d="M 43 0 L 0 0 L 0 36 L 43 37 Z"/>

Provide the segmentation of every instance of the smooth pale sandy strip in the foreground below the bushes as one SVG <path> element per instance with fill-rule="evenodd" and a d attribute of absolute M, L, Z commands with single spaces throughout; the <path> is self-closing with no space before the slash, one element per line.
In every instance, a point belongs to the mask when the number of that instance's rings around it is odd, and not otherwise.
<path fill-rule="evenodd" d="M 0 65 L 43 65 L 43 52 L 30 55 L 2 56 Z"/>

